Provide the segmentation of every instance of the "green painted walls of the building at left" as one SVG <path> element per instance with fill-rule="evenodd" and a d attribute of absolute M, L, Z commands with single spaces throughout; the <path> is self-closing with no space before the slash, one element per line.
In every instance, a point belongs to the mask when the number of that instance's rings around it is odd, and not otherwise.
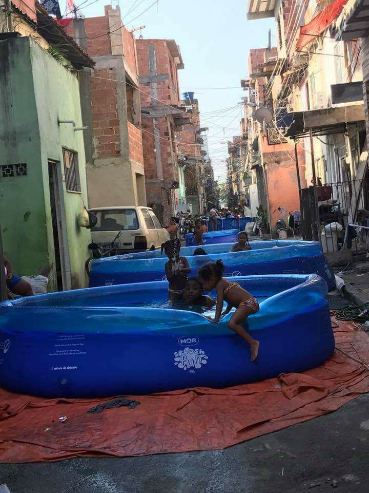
<path fill-rule="evenodd" d="M 87 205 L 83 130 L 77 75 L 29 37 L 0 42 L 0 165 L 26 163 L 27 176 L 3 178 L 0 169 L 0 223 L 5 255 L 19 275 L 49 277 L 56 290 L 48 160 L 58 162 L 63 177 L 71 286 L 86 286 L 85 260 L 91 233 L 77 225 Z M 81 194 L 67 192 L 62 147 L 78 153 Z"/>

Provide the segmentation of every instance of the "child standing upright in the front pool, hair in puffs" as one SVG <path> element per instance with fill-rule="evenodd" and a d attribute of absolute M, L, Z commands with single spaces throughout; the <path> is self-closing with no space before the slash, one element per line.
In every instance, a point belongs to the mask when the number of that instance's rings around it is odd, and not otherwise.
<path fill-rule="evenodd" d="M 191 267 L 189 266 L 186 257 L 179 256 L 180 240 L 178 238 L 162 243 L 161 253 L 163 251 L 165 251 L 169 258 L 168 262 L 165 264 L 166 276 L 169 282 L 169 299 L 172 302 L 176 302 L 179 300 L 186 287 L 188 279 L 187 274 L 191 272 Z"/>

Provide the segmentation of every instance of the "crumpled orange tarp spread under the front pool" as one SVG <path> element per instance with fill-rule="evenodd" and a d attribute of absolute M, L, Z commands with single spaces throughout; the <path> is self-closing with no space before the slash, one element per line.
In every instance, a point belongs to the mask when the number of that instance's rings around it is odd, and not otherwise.
<path fill-rule="evenodd" d="M 336 346 L 369 361 L 359 325 L 335 319 Z M 88 414 L 111 399 L 48 400 L 0 390 L 0 461 L 215 450 L 335 411 L 369 391 L 369 371 L 335 351 L 324 365 L 263 382 L 135 396 L 141 405 Z M 59 422 L 60 416 L 67 421 Z"/>

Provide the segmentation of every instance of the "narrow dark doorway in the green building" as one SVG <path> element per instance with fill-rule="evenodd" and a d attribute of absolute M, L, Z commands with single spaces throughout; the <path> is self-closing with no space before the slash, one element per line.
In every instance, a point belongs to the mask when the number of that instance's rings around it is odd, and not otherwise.
<path fill-rule="evenodd" d="M 59 163 L 48 161 L 50 211 L 53 232 L 53 248 L 55 258 L 55 276 L 57 291 L 71 289 L 69 252 L 67 243 L 67 227 L 64 209 L 63 187 L 59 178 Z"/>

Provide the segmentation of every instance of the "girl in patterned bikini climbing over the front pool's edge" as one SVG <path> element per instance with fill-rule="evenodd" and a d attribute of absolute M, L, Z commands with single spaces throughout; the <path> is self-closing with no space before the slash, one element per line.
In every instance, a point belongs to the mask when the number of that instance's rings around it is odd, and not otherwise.
<path fill-rule="evenodd" d="M 237 282 L 230 282 L 222 277 L 223 272 L 224 265 L 221 260 L 206 264 L 201 267 L 198 272 L 198 278 L 204 290 L 212 291 L 214 288 L 216 289 L 217 304 L 215 317 L 214 319 L 211 317 L 208 318 L 217 324 L 221 315 L 226 315 L 231 311 L 232 307 L 235 307 L 236 311 L 227 325 L 249 344 L 251 359 L 252 361 L 255 361 L 259 351 L 259 341 L 253 339 L 241 326 L 241 323 L 247 319 L 249 315 L 252 315 L 259 310 L 259 304 L 256 299 L 248 291 L 241 288 Z M 223 300 L 227 301 L 228 306 L 222 313 Z"/>

